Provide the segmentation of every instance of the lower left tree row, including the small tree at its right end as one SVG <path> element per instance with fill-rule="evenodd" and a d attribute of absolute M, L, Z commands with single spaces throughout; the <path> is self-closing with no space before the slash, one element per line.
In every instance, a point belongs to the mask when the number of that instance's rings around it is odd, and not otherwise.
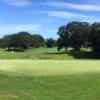
<path fill-rule="evenodd" d="M 0 39 L 0 48 L 7 50 L 26 50 L 34 47 L 54 47 L 55 40 L 52 38 L 45 39 L 39 34 L 30 34 L 28 32 L 19 32 L 16 34 L 5 35 Z"/>

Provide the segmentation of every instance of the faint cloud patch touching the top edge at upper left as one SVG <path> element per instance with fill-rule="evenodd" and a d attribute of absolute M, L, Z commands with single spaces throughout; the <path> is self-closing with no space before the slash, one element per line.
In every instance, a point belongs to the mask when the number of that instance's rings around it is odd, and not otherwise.
<path fill-rule="evenodd" d="M 5 3 L 15 7 L 23 7 L 30 5 L 30 0 L 3 0 Z"/>

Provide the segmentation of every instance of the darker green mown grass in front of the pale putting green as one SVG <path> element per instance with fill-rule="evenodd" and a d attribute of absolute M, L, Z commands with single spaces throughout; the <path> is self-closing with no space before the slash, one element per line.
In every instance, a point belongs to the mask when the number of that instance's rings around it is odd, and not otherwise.
<path fill-rule="evenodd" d="M 47 77 L 0 74 L 0 100 L 100 100 L 100 74 Z"/>

